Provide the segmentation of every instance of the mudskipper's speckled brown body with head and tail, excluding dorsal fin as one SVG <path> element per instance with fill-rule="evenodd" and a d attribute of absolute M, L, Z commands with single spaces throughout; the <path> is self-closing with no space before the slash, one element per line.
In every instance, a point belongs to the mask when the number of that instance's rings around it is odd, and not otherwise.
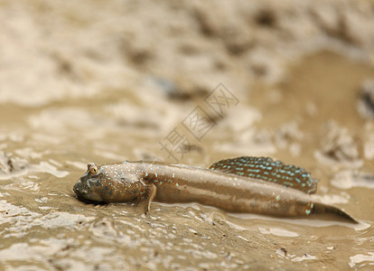
<path fill-rule="evenodd" d="M 82 201 L 145 201 L 145 212 L 153 200 L 200 202 L 223 210 L 265 214 L 276 217 L 305 217 L 314 213 L 337 214 L 354 221 L 333 206 L 311 195 L 273 182 L 222 173 L 181 164 L 125 162 L 105 164 L 98 173 L 90 170 L 74 185 Z"/>

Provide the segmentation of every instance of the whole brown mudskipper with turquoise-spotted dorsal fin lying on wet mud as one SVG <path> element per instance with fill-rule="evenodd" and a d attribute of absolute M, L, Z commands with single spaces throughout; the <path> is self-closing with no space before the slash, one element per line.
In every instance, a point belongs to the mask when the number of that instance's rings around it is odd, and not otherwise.
<path fill-rule="evenodd" d="M 283 218 L 320 214 L 357 223 L 345 211 L 313 198 L 317 183 L 311 173 L 293 164 L 241 156 L 207 169 L 146 161 L 89 163 L 73 192 L 86 202 L 145 202 L 145 213 L 153 201 L 197 202 L 230 212 Z"/>

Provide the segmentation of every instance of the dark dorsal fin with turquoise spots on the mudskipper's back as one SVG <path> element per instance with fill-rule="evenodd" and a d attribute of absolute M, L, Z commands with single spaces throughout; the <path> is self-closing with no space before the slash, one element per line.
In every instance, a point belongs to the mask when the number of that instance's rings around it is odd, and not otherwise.
<path fill-rule="evenodd" d="M 220 160 L 209 167 L 224 173 L 237 174 L 241 177 L 260 179 L 266 182 L 291 187 L 302 192 L 313 194 L 317 191 L 318 180 L 311 173 L 293 164 L 283 164 L 269 157 L 249 157 Z"/>

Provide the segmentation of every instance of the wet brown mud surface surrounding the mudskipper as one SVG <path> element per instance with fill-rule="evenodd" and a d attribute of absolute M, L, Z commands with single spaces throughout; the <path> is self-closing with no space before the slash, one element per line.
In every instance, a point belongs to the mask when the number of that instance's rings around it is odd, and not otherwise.
<path fill-rule="evenodd" d="M 0 269 L 373 267 L 373 13 L 372 1 L 0 0 Z M 209 107 L 218 93 L 229 99 Z M 72 192 L 89 162 L 238 155 L 307 168 L 318 197 L 360 224 L 157 202 L 145 216 Z"/>

